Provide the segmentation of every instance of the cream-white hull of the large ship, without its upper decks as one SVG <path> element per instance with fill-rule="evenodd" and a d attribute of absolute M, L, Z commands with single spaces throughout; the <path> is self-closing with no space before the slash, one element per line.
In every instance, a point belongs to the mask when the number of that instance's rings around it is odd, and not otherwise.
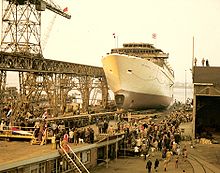
<path fill-rule="evenodd" d="M 166 108 L 173 99 L 173 76 L 146 59 L 110 54 L 102 59 L 118 108 Z"/>

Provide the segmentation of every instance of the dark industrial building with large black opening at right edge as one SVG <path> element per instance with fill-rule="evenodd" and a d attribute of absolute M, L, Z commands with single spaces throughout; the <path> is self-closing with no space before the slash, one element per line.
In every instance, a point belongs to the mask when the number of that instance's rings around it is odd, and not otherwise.
<path fill-rule="evenodd" d="M 220 67 L 193 67 L 194 137 L 212 138 L 220 134 Z"/>

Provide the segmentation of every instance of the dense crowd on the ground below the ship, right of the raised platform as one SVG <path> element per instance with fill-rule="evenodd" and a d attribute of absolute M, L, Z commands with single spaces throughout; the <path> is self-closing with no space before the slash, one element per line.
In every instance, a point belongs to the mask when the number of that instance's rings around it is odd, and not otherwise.
<path fill-rule="evenodd" d="M 173 111 L 163 119 L 149 118 L 142 121 L 130 123 L 120 122 L 118 130 L 125 132 L 125 148 L 133 149 L 138 157 L 154 158 L 155 153 L 160 153 L 156 158 L 154 169 L 157 170 L 159 160 L 163 162 L 164 171 L 167 170 L 171 160 L 175 160 L 175 167 L 178 167 L 179 157 L 187 157 L 186 146 L 181 146 L 180 123 L 192 121 L 192 113 L 184 110 Z M 122 125 L 123 124 L 123 125 Z M 123 127 L 123 128 L 121 128 Z M 146 163 L 146 168 L 151 172 L 153 161 Z"/>

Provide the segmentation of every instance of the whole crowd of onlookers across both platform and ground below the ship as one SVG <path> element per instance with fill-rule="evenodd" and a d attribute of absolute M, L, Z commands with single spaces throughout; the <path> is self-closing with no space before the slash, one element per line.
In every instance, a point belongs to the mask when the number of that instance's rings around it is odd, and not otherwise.
<path fill-rule="evenodd" d="M 90 119 L 91 123 L 96 124 L 98 133 L 124 133 L 124 141 L 121 144 L 123 148 L 129 148 L 134 150 L 134 154 L 138 157 L 143 157 L 147 163 L 146 168 L 148 172 L 151 172 L 152 167 L 155 171 L 163 161 L 164 171 L 167 170 L 167 166 L 174 157 L 175 167 L 178 167 L 178 160 L 181 155 L 187 157 L 186 147 L 180 145 L 181 131 L 179 129 L 180 123 L 192 121 L 192 113 L 185 110 L 177 110 L 167 113 L 166 117 L 159 118 L 146 118 L 142 120 L 126 119 L 126 114 L 115 114 L 114 120 L 117 124 L 116 127 L 109 125 L 109 118 L 95 118 Z M 42 141 L 45 133 L 53 136 L 55 139 L 56 148 L 61 145 L 73 143 L 75 145 L 79 143 L 94 143 L 95 131 L 90 126 L 81 127 L 74 122 L 66 123 L 63 120 L 60 121 L 46 121 L 46 118 L 33 121 L 30 118 L 19 119 L 15 122 L 15 125 L 21 127 L 33 127 L 33 134 L 38 141 Z M 10 124 L 4 124 L 4 120 L 1 122 L 1 129 L 4 126 L 10 126 Z M 156 158 L 154 163 L 152 156 L 155 153 L 160 152 L 161 158 Z M 151 159 L 149 159 L 151 158 Z"/>

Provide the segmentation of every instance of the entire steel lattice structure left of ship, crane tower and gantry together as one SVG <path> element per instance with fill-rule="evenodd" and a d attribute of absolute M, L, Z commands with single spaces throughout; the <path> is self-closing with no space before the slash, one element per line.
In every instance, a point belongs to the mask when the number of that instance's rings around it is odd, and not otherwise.
<path fill-rule="evenodd" d="M 98 78 L 99 87 L 108 90 L 102 68 L 43 58 L 41 50 L 41 12 L 48 9 L 67 19 L 71 16 L 52 0 L 3 0 L 2 37 L 0 52 L 0 93 L 5 91 L 6 71 L 19 72 L 19 101 L 14 114 L 26 114 L 47 94 L 49 107 L 57 115 L 66 106 L 68 92 L 81 91 L 83 109 L 88 110 L 89 95 Z M 99 85 L 99 84 L 98 84 Z M 103 92 L 103 93 L 106 93 Z M 108 93 L 106 93 L 108 94 Z M 105 98 L 107 95 L 105 95 Z M 103 98 L 102 104 L 107 103 Z M 2 99 L 0 98 L 0 101 Z"/>

